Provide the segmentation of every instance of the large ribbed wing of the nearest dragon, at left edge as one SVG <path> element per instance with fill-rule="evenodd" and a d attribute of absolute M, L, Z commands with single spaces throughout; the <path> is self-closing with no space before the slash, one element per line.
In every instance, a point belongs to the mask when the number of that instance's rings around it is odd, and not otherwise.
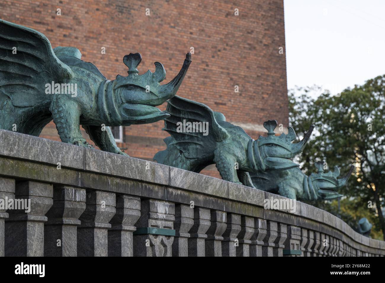
<path fill-rule="evenodd" d="M 42 102 L 45 84 L 66 82 L 73 77 L 61 62 L 47 37 L 32 28 L 0 19 L 0 92 L 15 106 Z"/>

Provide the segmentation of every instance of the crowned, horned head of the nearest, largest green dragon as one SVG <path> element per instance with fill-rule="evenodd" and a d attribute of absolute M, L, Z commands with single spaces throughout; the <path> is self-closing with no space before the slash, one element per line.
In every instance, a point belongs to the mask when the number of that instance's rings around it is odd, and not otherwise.
<path fill-rule="evenodd" d="M 182 69 L 168 84 L 160 85 L 166 78 L 166 70 L 155 62 L 155 72 L 148 70 L 139 75 L 137 69 L 142 61 L 139 53 L 125 55 L 124 64 L 129 68 L 127 77 L 117 75 L 113 81 L 106 80 L 99 87 L 98 106 L 104 121 L 109 126 L 129 126 L 159 121 L 170 115 L 155 106 L 176 95 L 187 69 L 191 64 L 191 54 L 186 54 Z"/>

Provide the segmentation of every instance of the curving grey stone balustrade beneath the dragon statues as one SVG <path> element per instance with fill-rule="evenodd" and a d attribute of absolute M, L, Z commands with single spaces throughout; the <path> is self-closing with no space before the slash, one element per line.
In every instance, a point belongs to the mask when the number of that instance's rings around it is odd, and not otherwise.
<path fill-rule="evenodd" d="M 305 203 L 141 159 L 0 130 L 0 256 L 384 256 Z"/>

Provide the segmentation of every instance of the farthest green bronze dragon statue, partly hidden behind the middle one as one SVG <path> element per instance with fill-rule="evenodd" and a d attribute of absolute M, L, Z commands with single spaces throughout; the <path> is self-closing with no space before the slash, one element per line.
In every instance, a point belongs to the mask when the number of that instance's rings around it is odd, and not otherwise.
<path fill-rule="evenodd" d="M 339 198 L 342 195 L 337 191 L 345 186 L 352 175 L 354 166 L 350 167 L 345 177 L 340 176 L 340 169 L 324 172 L 323 162 L 316 162 L 317 173 L 306 176 L 299 168 L 285 171 L 251 172 L 250 177 L 257 189 L 270 193 L 280 194 L 286 198 L 306 201 L 326 200 Z"/>

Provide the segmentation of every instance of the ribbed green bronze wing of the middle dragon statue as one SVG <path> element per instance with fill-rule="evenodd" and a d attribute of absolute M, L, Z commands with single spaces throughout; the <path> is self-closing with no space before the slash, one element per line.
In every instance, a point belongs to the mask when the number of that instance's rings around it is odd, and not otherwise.
<path fill-rule="evenodd" d="M 174 139 L 174 146 L 184 153 L 187 158 L 197 158 L 212 154 L 216 142 L 228 137 L 226 129 L 221 127 L 215 119 L 213 110 L 202 103 L 175 96 L 167 101 L 166 112 L 171 116 L 164 121 L 164 129 Z M 208 123 L 208 134 L 202 132 L 181 132 L 178 124 L 201 122 Z M 180 124 L 179 124 L 180 125 Z M 197 125 L 197 124 L 192 124 Z M 199 124 L 198 124 L 199 125 Z M 180 129 L 180 128 L 179 128 Z"/>

